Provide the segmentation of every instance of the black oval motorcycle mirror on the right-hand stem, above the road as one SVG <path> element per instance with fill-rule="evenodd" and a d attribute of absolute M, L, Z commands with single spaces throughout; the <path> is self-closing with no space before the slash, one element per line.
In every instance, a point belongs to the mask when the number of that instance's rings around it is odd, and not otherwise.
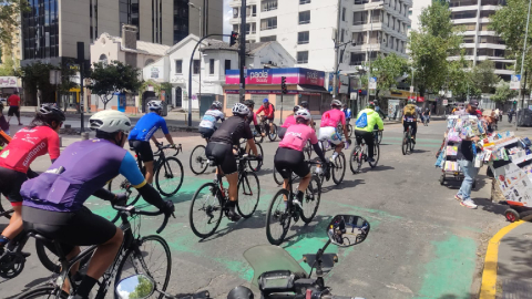
<path fill-rule="evenodd" d="M 369 223 L 356 215 L 336 215 L 327 226 L 330 243 L 349 247 L 362 243 L 369 234 Z"/>

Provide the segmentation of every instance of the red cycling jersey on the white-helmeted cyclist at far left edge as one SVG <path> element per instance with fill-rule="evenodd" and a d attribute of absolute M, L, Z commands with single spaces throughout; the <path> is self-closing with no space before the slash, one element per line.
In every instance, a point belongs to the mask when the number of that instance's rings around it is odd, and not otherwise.
<path fill-rule="evenodd" d="M 58 133 L 49 126 L 24 127 L 0 152 L 0 167 L 25 174 L 30 164 L 47 152 L 51 159 L 59 157 Z"/>

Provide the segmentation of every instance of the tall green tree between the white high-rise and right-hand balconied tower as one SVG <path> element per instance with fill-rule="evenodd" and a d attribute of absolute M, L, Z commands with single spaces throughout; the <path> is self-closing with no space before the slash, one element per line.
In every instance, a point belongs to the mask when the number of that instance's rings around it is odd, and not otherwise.
<path fill-rule="evenodd" d="M 449 80 L 449 55 L 462 55 L 461 29 L 451 21 L 449 4 L 433 1 L 419 17 L 420 29 L 409 37 L 415 79 L 423 95 L 426 90 L 439 92 Z"/>

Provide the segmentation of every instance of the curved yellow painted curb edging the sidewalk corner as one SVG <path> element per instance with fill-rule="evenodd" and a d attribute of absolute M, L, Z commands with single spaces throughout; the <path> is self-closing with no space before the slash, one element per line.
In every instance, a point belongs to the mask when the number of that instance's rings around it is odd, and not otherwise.
<path fill-rule="evenodd" d="M 499 259 L 499 244 L 501 239 L 515 227 L 524 224 L 523 220 L 515 221 L 503 227 L 491 238 L 485 251 L 484 270 L 482 271 L 482 286 L 480 287 L 479 299 L 494 299 L 497 292 L 497 261 Z"/>

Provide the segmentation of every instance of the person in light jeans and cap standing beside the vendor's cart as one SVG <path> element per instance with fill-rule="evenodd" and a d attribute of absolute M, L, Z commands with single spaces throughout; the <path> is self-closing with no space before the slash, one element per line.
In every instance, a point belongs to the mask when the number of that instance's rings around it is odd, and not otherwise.
<path fill-rule="evenodd" d="M 479 102 L 477 100 L 471 100 L 468 106 L 460 111 L 462 112 L 461 115 L 477 116 L 478 105 Z M 463 173 L 463 182 L 460 186 L 460 190 L 457 195 L 454 195 L 454 198 L 460 202 L 461 206 L 474 209 L 477 208 L 477 205 L 471 199 L 471 189 L 473 187 L 474 178 L 479 174 L 479 168 L 474 167 L 473 159 L 477 151 L 475 148 L 478 148 L 475 143 L 479 142 L 480 138 L 478 136 L 468 137 L 464 135 L 460 135 L 460 137 L 462 138 L 462 142 L 458 146 L 457 159 L 458 164 L 460 165 L 460 169 Z"/>

